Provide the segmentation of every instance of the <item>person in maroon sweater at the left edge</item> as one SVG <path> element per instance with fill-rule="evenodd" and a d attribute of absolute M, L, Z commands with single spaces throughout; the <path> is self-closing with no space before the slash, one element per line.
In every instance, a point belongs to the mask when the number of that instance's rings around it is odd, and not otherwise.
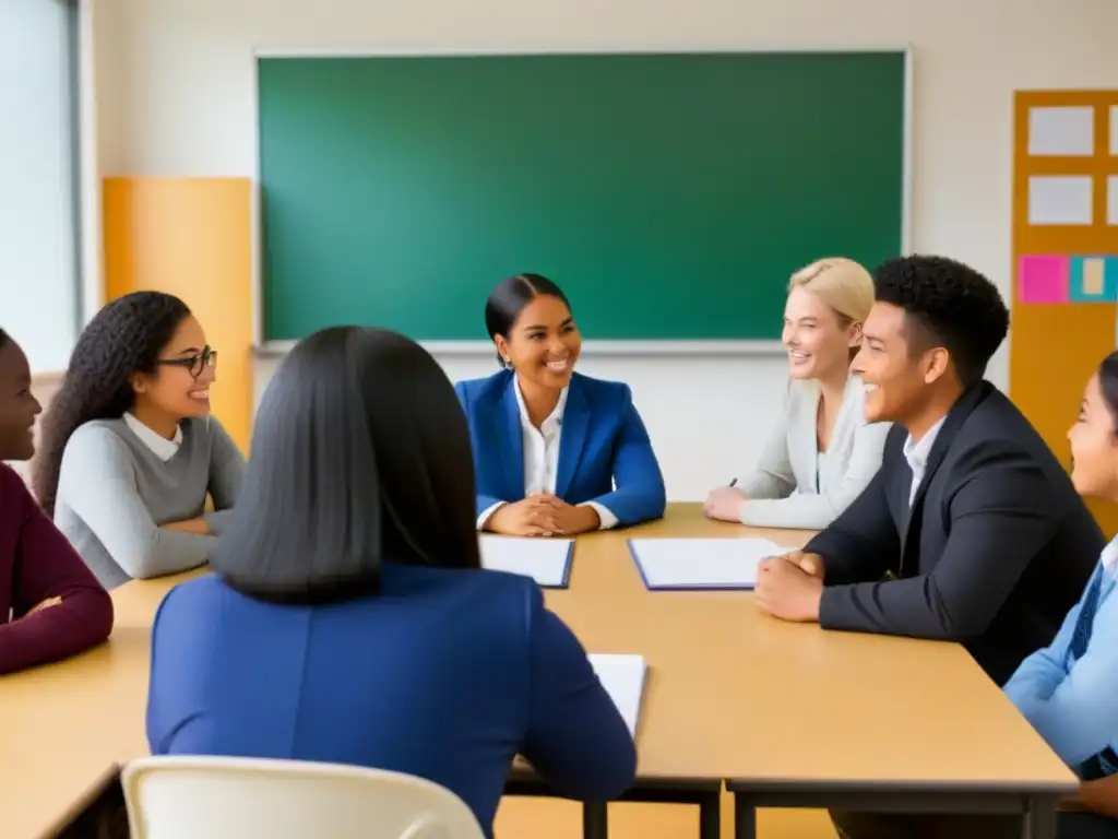
<path fill-rule="evenodd" d="M 27 357 L 0 329 L 0 460 L 30 460 L 41 411 Z M 75 656 L 112 629 L 108 593 L 23 479 L 0 464 L 0 676 Z"/>

